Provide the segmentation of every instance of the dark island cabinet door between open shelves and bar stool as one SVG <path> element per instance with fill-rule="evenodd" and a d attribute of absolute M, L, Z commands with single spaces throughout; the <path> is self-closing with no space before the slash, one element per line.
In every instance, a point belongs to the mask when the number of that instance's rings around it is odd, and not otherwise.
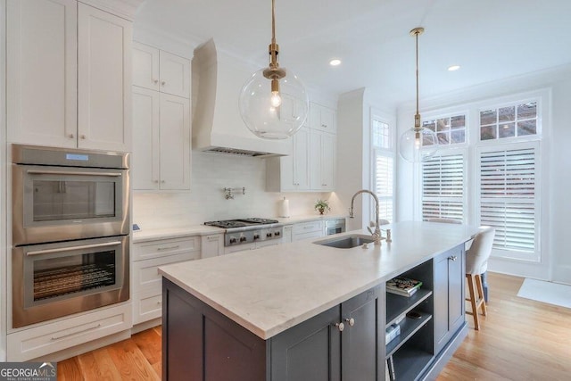
<path fill-rule="evenodd" d="M 465 324 L 464 245 L 434 258 L 434 354 Z"/>

